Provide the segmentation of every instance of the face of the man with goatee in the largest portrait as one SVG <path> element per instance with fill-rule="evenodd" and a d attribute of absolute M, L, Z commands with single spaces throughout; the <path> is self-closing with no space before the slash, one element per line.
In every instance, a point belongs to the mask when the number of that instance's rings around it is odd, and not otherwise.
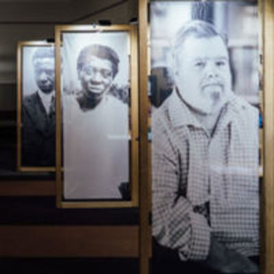
<path fill-rule="evenodd" d="M 186 103 L 203 114 L 221 110 L 232 82 L 223 40 L 190 36 L 177 50 L 175 62 L 175 83 Z"/>

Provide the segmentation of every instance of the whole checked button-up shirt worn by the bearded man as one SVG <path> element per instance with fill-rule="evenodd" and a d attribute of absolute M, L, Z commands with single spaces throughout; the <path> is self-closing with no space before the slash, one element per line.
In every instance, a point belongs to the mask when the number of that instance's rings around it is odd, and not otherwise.
<path fill-rule="evenodd" d="M 259 250 L 258 111 L 231 92 L 214 135 L 173 92 L 153 112 L 153 236 L 182 260 L 206 260 L 210 234 Z"/>

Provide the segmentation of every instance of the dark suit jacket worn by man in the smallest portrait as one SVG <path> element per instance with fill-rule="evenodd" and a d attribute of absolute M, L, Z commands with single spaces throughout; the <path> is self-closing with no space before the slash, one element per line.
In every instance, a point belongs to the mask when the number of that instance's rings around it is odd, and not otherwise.
<path fill-rule="evenodd" d="M 47 114 L 34 92 L 23 100 L 22 165 L 55 165 L 55 109 Z"/>

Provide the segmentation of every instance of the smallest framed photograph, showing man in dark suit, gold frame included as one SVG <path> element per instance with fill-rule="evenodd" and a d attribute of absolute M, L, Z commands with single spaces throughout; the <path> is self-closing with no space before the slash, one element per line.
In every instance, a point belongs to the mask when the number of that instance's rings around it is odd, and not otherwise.
<path fill-rule="evenodd" d="M 55 171 L 55 47 L 17 47 L 17 169 Z"/>

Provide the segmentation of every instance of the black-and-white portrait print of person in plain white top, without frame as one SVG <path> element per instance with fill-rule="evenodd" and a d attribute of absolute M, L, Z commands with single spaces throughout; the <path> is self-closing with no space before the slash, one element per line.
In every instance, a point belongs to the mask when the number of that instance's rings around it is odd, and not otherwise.
<path fill-rule="evenodd" d="M 68 33 L 63 42 L 64 198 L 126 199 L 127 33 Z"/>

